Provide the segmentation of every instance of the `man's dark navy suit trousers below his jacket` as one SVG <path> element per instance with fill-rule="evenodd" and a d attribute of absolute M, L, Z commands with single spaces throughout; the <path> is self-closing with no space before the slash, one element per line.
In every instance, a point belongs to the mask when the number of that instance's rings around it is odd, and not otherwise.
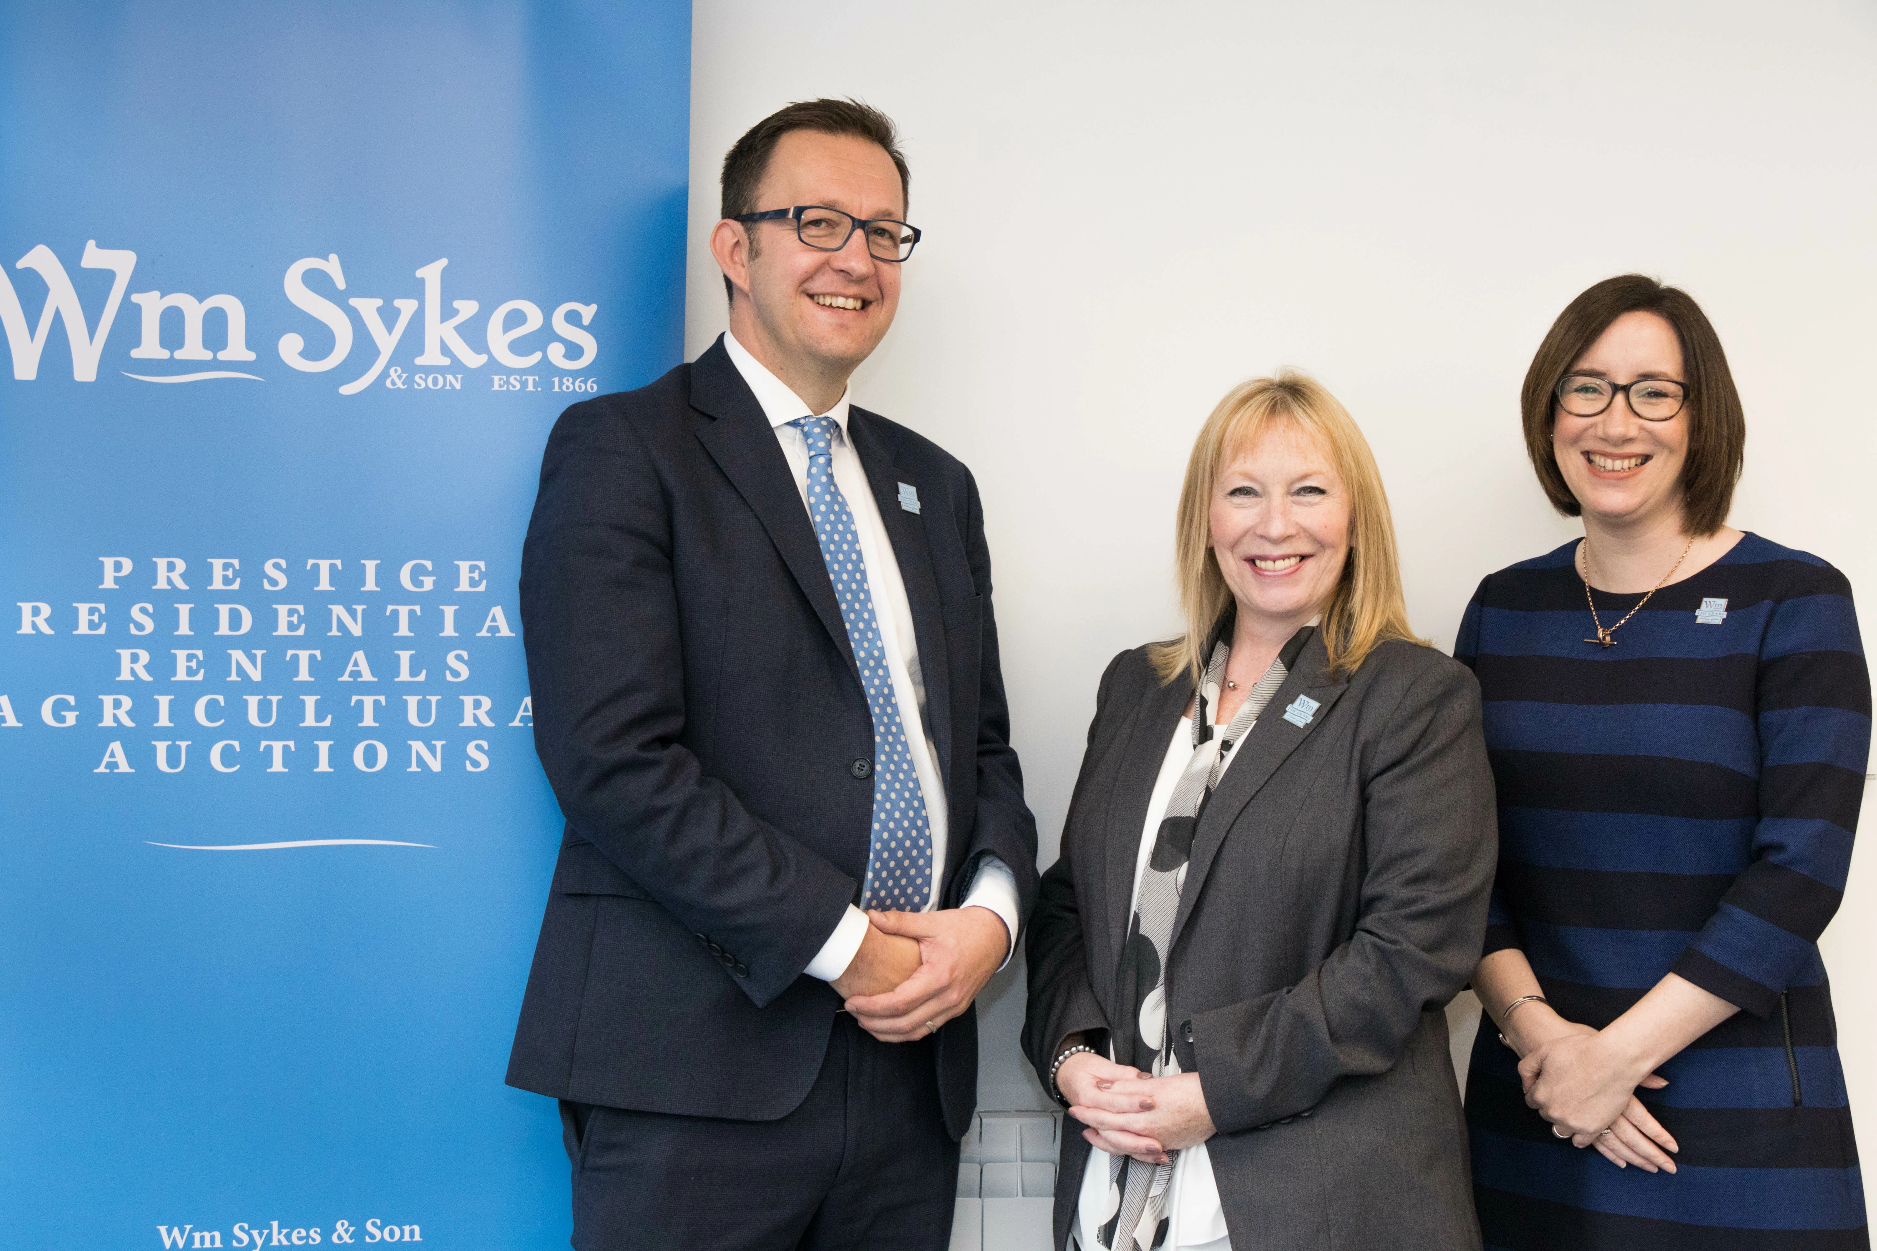
<path fill-rule="evenodd" d="M 563 1099 L 561 1127 L 576 1251 L 946 1251 L 952 1238 L 959 1148 L 933 1041 L 880 1043 L 847 1013 L 815 1086 L 781 1120 Z"/>

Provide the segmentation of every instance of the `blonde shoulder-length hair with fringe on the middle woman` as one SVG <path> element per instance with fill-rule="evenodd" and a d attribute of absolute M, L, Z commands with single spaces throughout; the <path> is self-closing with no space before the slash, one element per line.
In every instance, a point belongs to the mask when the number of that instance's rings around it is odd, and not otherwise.
<path fill-rule="evenodd" d="M 1220 473 L 1254 446 L 1271 422 L 1280 420 L 1291 422 L 1329 452 L 1329 461 L 1350 493 L 1350 557 L 1323 606 L 1321 630 L 1331 673 L 1353 673 L 1387 640 L 1428 645 L 1408 626 L 1395 555 L 1395 520 L 1389 516 L 1389 495 L 1368 441 L 1350 411 L 1321 383 L 1284 369 L 1276 377 L 1233 386 L 1213 409 L 1213 416 L 1205 418 L 1192 446 L 1173 536 L 1173 576 L 1179 581 L 1186 632 L 1152 645 L 1149 655 L 1162 681 L 1171 683 L 1188 673 L 1198 685 L 1205 677 L 1211 641 L 1231 608 L 1231 589 L 1213 555 L 1213 491 Z"/>

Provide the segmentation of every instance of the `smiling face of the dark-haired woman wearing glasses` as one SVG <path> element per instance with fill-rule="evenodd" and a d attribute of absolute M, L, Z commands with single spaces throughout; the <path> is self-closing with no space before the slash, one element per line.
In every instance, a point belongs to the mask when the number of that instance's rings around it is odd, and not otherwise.
<path fill-rule="evenodd" d="M 1571 373 L 1618 386 L 1637 379 L 1687 381 L 1682 369 L 1682 339 L 1657 313 L 1624 313 L 1571 364 Z M 1550 446 L 1584 520 L 1622 531 L 1678 520 L 1687 422 L 1687 405 L 1665 422 L 1644 422 L 1627 396 L 1616 396 L 1597 416 L 1573 416 L 1554 399 Z"/>

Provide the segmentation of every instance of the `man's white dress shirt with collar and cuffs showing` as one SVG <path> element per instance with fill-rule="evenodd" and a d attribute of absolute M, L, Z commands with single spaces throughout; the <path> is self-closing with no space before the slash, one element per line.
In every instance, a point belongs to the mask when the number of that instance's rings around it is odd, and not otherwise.
<path fill-rule="evenodd" d="M 854 514 L 854 533 L 860 538 L 862 559 L 867 563 L 867 589 L 873 593 L 873 615 L 880 625 L 880 643 L 886 651 L 886 670 L 893 679 L 899 720 L 920 728 L 920 733 L 907 735 L 907 745 L 912 754 L 912 771 L 918 775 L 920 790 L 925 795 L 925 820 L 933 838 L 933 882 L 925 902 L 925 910 L 929 912 L 938 906 L 938 887 L 944 876 L 946 791 L 944 780 L 938 776 L 938 748 L 933 745 L 931 724 L 925 716 L 925 677 L 920 671 L 920 647 L 912 632 L 912 606 L 907 602 L 907 583 L 899 578 L 899 561 L 893 555 L 892 540 L 886 536 L 886 523 L 880 520 L 880 506 L 873 499 L 867 471 L 860 463 L 854 443 L 847 437 L 848 392 L 843 390 L 841 398 L 826 413 L 811 413 L 809 405 L 786 383 L 770 373 L 760 360 L 751 356 L 749 349 L 738 343 L 734 334 L 726 332 L 723 345 L 730 353 L 730 362 L 738 373 L 749 383 L 749 390 L 756 394 L 756 403 L 762 405 L 764 416 L 770 418 L 770 426 L 783 445 L 783 456 L 788 458 L 788 469 L 796 476 L 796 490 L 801 491 L 803 512 L 809 505 L 809 445 L 801 431 L 788 422 L 803 416 L 832 416 L 839 428 L 833 439 L 833 482 L 841 488 L 841 495 L 847 497 L 848 512 Z M 995 855 L 985 857 L 978 867 L 978 876 L 972 880 L 970 895 L 965 897 L 963 906 L 989 908 L 1002 919 L 1004 930 L 1010 936 L 1010 947 L 1004 951 L 1004 964 L 1008 964 L 1017 940 L 1017 876 Z M 854 962 L 854 955 L 860 951 L 865 936 L 867 913 L 848 904 L 841 923 L 835 925 L 833 934 L 828 936 L 828 942 L 822 943 L 822 949 L 809 960 L 803 972 L 809 977 L 833 981 Z"/>

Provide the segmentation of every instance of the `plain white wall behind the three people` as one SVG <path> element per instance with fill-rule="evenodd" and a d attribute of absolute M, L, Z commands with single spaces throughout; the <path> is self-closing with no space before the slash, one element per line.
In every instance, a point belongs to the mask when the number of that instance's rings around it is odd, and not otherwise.
<path fill-rule="evenodd" d="M 1047 865 L 1104 664 L 1173 632 L 1192 437 L 1278 366 L 1363 424 L 1415 626 L 1451 647 L 1483 574 L 1575 533 L 1518 435 L 1539 338 L 1592 281 L 1656 274 L 1702 302 L 1746 398 L 1734 525 L 1877 595 L 1873 66 L 1866 0 L 696 0 L 687 347 L 725 326 L 706 236 L 730 143 L 790 99 L 888 111 L 925 242 L 854 394 L 978 475 Z M 1864 852 L 1824 940 L 1868 1144 L 1873 878 Z M 1006 973 L 984 1107 L 1042 1103 L 1021 1017 Z"/>

